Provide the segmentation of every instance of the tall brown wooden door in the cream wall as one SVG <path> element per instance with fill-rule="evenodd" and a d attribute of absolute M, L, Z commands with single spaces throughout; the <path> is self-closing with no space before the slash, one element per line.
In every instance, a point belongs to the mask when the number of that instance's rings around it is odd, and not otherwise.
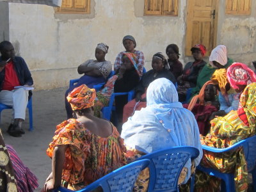
<path fill-rule="evenodd" d="M 188 0 L 186 56 L 191 56 L 191 47 L 203 44 L 205 56 L 216 46 L 218 0 Z"/>

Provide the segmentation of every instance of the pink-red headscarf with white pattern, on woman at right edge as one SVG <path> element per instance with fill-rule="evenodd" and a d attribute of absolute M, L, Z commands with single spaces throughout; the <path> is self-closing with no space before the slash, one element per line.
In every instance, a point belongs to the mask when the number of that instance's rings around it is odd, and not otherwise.
<path fill-rule="evenodd" d="M 238 89 L 237 84 L 250 84 L 256 82 L 256 76 L 252 69 L 244 63 L 233 63 L 228 67 L 227 77 L 230 85 Z"/>

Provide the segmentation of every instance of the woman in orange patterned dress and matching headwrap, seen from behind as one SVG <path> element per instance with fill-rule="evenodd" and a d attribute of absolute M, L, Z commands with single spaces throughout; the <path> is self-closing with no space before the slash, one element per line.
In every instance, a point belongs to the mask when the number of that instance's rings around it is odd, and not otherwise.
<path fill-rule="evenodd" d="M 74 116 L 57 125 L 47 155 L 52 173 L 44 190 L 59 186 L 78 190 L 126 164 L 125 147 L 116 128 L 93 115 L 94 89 L 81 85 L 68 94 Z"/>

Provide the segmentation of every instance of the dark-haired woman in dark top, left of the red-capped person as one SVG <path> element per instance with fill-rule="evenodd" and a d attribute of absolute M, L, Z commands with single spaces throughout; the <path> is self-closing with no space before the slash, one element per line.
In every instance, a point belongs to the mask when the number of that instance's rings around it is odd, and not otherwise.
<path fill-rule="evenodd" d="M 180 63 L 179 58 L 179 47 L 176 44 L 170 44 L 166 47 L 166 54 L 168 56 L 168 63 L 170 71 L 172 72 L 175 79 L 182 75 L 183 65 Z"/>

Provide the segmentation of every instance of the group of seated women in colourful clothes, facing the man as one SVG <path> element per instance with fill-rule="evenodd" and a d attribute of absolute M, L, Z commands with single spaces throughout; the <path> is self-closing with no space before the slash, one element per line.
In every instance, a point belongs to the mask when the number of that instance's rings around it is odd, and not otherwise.
<path fill-rule="evenodd" d="M 206 63 L 203 60 L 206 49 L 200 44 L 191 48 L 195 61 L 187 63 L 183 70 L 179 48 L 171 44 L 166 47 L 169 59 L 157 52 L 152 57 L 152 70 L 143 74 L 144 57 L 141 51 L 135 51 L 134 38 L 125 36 L 123 44 L 126 51 L 116 57 L 115 75 L 97 92 L 92 88 L 93 83 L 86 83 L 83 78 L 103 76 L 108 46 L 97 45 L 97 61 L 92 62 L 101 62 L 98 68 L 89 66 L 90 62 L 79 66 L 78 71 L 84 76 L 67 92 L 72 113 L 68 120 L 57 125 L 47 149 L 52 158 L 52 172 L 45 181 L 44 191 L 59 186 L 84 188 L 140 156 L 175 146 L 191 146 L 200 151 L 182 169 L 180 190 L 188 191 L 184 184 L 201 163 L 234 173 L 236 190 L 246 191 L 248 173 L 243 148 L 216 156 L 203 152 L 202 145 L 225 148 L 255 135 L 254 72 L 243 63 L 232 64 L 224 45 L 214 48 Z M 106 81 L 109 73 L 102 81 Z M 182 106 L 181 101 L 191 88 L 193 98 Z M 135 92 L 134 100 L 127 104 L 126 96 L 115 100 L 118 121 L 124 122 L 122 129 L 117 130 L 111 122 L 100 118 L 100 109 L 108 105 L 113 92 L 130 90 Z M 143 170 L 133 191 L 147 191 L 149 178 L 148 169 Z M 196 171 L 195 191 L 220 191 L 220 180 Z"/>

